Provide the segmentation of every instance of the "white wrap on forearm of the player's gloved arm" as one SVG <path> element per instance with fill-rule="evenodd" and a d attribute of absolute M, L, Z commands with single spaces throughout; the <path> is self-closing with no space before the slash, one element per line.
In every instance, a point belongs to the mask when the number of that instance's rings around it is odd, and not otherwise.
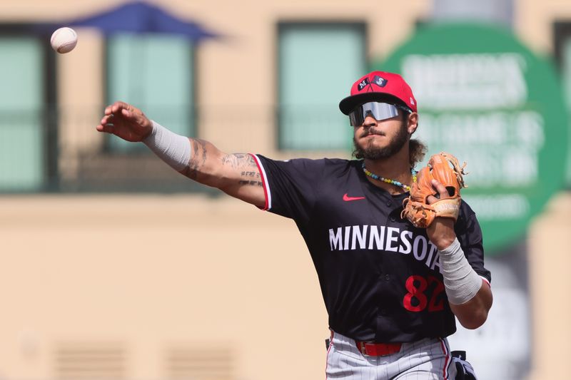
<path fill-rule="evenodd" d="M 448 301 L 451 304 L 465 304 L 480 290 L 482 279 L 470 267 L 458 239 L 439 253 Z"/>

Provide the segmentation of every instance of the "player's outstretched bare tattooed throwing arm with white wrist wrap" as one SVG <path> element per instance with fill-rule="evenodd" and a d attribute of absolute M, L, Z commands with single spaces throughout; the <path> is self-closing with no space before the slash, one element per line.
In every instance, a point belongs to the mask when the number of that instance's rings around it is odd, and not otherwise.
<path fill-rule="evenodd" d="M 226 154 L 208 141 L 177 135 L 123 102 L 105 108 L 96 129 L 123 140 L 144 143 L 172 168 L 198 183 L 258 207 L 265 205 L 260 171 L 251 155 Z"/>

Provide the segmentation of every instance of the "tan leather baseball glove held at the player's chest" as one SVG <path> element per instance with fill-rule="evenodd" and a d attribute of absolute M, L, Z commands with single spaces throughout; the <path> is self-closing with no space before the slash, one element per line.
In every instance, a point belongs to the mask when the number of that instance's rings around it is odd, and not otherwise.
<path fill-rule="evenodd" d="M 460 212 L 460 189 L 464 185 L 463 175 L 466 163 L 460 167 L 458 159 L 453 155 L 440 152 L 428 160 L 428 165 L 418 172 L 417 180 L 410 187 L 410 196 L 403 201 L 405 207 L 400 217 L 406 217 L 415 227 L 426 228 L 435 217 L 458 219 Z M 428 204 L 428 197 L 440 197 L 431 181 L 442 183 L 450 197 Z"/>

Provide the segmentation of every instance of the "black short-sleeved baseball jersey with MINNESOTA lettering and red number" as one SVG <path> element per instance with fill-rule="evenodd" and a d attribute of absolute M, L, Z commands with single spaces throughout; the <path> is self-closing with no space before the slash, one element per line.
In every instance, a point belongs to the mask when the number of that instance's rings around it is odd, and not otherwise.
<path fill-rule="evenodd" d="M 438 250 L 400 218 L 408 193 L 370 183 L 360 160 L 271 160 L 254 155 L 266 210 L 298 226 L 318 274 L 329 327 L 359 341 L 414 342 L 456 331 Z M 455 232 L 488 283 L 482 232 L 462 202 Z"/>

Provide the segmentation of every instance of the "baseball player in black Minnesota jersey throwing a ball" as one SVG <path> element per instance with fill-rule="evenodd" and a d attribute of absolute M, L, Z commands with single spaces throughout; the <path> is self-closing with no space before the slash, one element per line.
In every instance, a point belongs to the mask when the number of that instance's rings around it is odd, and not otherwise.
<path fill-rule="evenodd" d="M 476 329 L 492 305 L 475 213 L 462 201 L 457 220 L 436 217 L 428 228 L 401 217 L 425 149 L 411 139 L 417 103 L 401 76 L 368 73 L 339 106 L 357 160 L 227 154 L 123 102 L 108 106 L 96 129 L 143 142 L 188 178 L 295 220 L 329 316 L 327 379 L 455 379 L 446 339 L 455 318 Z M 429 203 L 450 197 L 432 185 L 438 196 Z"/>

